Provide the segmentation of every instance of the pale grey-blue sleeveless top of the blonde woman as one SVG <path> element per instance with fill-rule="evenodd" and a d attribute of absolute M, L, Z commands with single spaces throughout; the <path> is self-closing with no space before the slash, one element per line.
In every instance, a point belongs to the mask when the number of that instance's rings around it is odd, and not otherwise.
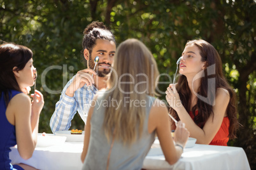
<path fill-rule="evenodd" d="M 90 119 L 89 147 L 82 169 L 106 169 L 107 166 L 111 140 L 108 143 L 102 128 L 106 108 L 106 105 L 103 104 L 104 101 L 104 95 L 97 96 L 94 113 Z M 108 169 L 141 169 L 143 160 L 155 140 L 155 131 L 148 133 L 148 117 L 154 101 L 155 98 L 147 96 L 146 102 L 143 104 L 146 107 L 146 115 L 141 138 L 132 143 L 131 146 L 123 145 L 121 141 L 114 140 Z"/>

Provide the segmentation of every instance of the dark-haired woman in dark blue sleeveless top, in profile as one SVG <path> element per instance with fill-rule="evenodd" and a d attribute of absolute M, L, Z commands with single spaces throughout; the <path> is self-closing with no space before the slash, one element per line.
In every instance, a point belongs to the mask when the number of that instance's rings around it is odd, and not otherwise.
<path fill-rule="evenodd" d="M 6 43 L 0 46 L 0 169 L 34 169 L 25 164 L 11 165 L 10 147 L 17 145 L 23 159 L 29 159 L 37 142 L 39 114 L 43 95 L 27 95 L 33 86 L 36 69 L 31 49 Z"/>

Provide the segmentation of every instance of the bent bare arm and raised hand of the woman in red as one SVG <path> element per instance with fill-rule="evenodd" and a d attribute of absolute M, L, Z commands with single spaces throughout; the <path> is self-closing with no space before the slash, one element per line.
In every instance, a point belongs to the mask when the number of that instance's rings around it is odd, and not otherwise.
<path fill-rule="evenodd" d="M 171 90 L 171 88 L 173 90 Z M 180 96 L 178 95 L 175 87 L 171 86 L 170 88 L 167 88 L 167 91 L 169 94 L 167 94 L 166 99 L 169 101 L 171 100 L 171 102 L 168 101 L 168 103 L 175 103 L 178 101 L 174 100 L 180 100 Z M 186 128 L 190 132 L 190 136 L 197 139 L 197 143 L 208 145 L 217 134 L 224 119 L 225 111 L 229 103 L 229 93 L 223 88 L 218 88 L 215 95 L 216 98 L 215 105 L 213 106 L 213 115 L 210 115 L 204 124 L 203 129 L 199 128 L 199 126 L 195 124 L 183 105 L 171 106 L 176 110 L 180 120 L 186 124 Z"/>

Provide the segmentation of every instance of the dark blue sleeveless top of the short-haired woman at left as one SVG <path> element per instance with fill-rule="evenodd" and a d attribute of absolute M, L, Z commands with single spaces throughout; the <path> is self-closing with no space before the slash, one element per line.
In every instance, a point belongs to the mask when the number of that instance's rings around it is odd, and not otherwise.
<path fill-rule="evenodd" d="M 20 91 L 11 90 L 10 100 L 13 96 L 21 93 Z M 10 101 L 9 100 L 9 101 Z M 4 101 L 4 93 L 1 93 L 0 98 L 0 129 L 1 140 L 0 140 L 0 169 L 13 169 L 11 160 L 9 158 L 10 147 L 17 145 L 15 126 L 10 124 L 6 118 L 6 104 Z"/>

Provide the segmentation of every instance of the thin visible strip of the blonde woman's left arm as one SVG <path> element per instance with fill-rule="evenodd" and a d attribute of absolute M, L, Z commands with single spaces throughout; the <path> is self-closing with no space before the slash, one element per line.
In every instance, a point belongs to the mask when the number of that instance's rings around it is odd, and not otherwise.
<path fill-rule="evenodd" d="M 94 96 L 94 99 L 96 101 L 97 99 L 97 95 Z M 87 117 L 87 122 L 85 124 L 85 137 L 83 140 L 83 152 L 81 155 L 81 160 L 82 162 L 85 161 L 85 157 L 87 154 L 87 150 L 89 147 L 89 141 L 90 141 L 90 119 L 92 117 L 92 113 L 94 112 L 94 106 L 90 107 L 89 113 L 88 113 L 88 117 Z"/>

